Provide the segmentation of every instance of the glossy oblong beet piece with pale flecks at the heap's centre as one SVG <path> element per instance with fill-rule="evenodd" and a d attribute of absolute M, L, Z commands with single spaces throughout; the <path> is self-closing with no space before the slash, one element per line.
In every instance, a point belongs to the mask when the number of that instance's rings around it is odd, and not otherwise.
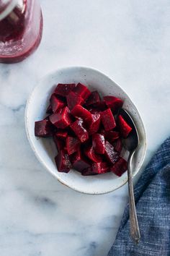
<path fill-rule="evenodd" d="M 84 121 L 82 119 L 78 119 L 71 124 L 71 129 L 76 134 L 81 142 L 85 142 L 89 139 L 89 134 L 86 129 L 83 127 Z"/>

